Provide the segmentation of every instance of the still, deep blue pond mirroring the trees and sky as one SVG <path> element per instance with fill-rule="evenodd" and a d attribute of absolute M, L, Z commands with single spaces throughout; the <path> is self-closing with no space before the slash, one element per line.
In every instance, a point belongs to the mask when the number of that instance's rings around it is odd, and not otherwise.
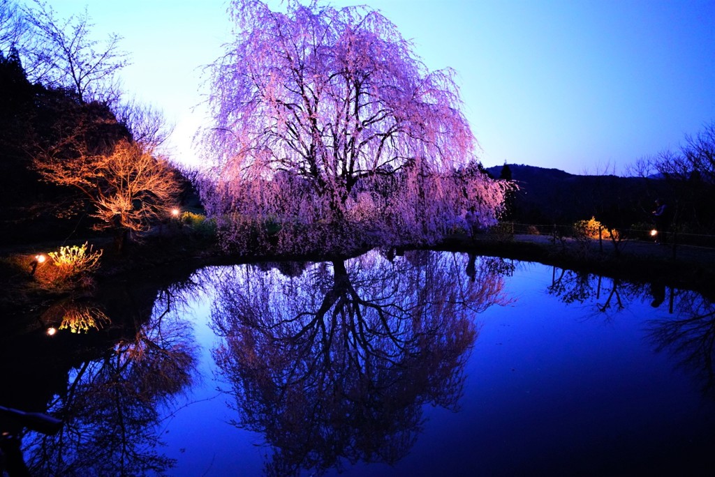
<path fill-rule="evenodd" d="M 143 290 L 64 303 L 100 329 L 27 346 L 57 346 L 36 394 L 64 420 L 23 437 L 37 475 L 715 475 L 693 291 L 388 250 Z"/>

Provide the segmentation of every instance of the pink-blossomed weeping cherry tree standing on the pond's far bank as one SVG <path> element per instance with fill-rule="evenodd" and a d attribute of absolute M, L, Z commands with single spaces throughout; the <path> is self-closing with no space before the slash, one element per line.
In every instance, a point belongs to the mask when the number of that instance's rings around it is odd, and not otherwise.
<path fill-rule="evenodd" d="M 230 14 L 203 136 L 202 195 L 225 243 L 430 243 L 470 205 L 495 222 L 508 185 L 467 167 L 476 141 L 453 71 L 429 71 L 379 11 L 235 0 Z"/>

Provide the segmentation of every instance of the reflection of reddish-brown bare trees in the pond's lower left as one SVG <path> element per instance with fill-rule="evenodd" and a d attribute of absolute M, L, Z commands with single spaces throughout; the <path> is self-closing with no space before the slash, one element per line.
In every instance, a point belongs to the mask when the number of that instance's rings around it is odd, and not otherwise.
<path fill-rule="evenodd" d="M 69 373 L 49 406 L 61 431 L 25 439 L 32 475 L 145 475 L 172 466 L 157 452 L 157 408 L 192 383 L 195 357 L 187 325 L 161 311 L 134 339 Z"/>

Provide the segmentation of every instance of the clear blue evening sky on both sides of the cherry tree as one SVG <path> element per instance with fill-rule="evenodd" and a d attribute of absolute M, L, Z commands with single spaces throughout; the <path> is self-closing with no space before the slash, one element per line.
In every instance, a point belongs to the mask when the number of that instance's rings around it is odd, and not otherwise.
<path fill-rule="evenodd" d="M 280 2 L 269 1 L 277 6 Z M 715 121 L 715 0 L 332 1 L 393 21 L 430 69 L 458 73 L 485 166 L 616 171 Z M 224 0 L 60 0 L 94 33 L 124 37 L 124 89 L 174 123 L 172 155 L 194 163 L 205 124 L 203 65 L 230 39 Z"/>

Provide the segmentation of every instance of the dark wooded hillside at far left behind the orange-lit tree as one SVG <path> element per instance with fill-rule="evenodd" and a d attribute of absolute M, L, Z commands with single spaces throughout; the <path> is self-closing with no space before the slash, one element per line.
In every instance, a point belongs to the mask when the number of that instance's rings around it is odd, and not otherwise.
<path fill-rule="evenodd" d="M 19 56 L 0 52 L 0 245 L 87 238 L 93 229 L 107 228 L 98 216 L 97 194 L 112 197 L 111 181 L 117 178 L 106 175 L 98 158 L 114 157 L 117 145 L 132 139 L 109 104 L 31 84 Z M 159 164 L 153 156 L 149 161 Z M 167 177 L 180 180 L 188 194 L 190 174 L 166 167 Z M 154 196 L 159 184 L 168 183 L 154 184 Z"/>

